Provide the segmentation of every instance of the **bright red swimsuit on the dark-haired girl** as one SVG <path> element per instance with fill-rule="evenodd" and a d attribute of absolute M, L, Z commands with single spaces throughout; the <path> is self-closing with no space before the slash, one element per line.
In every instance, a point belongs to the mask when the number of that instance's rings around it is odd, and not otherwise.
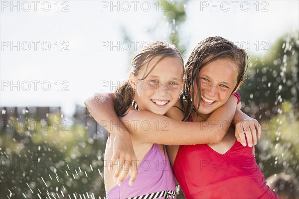
<path fill-rule="evenodd" d="M 266 185 L 253 147 L 238 141 L 223 155 L 207 144 L 179 146 L 172 169 L 187 199 L 279 199 Z"/>

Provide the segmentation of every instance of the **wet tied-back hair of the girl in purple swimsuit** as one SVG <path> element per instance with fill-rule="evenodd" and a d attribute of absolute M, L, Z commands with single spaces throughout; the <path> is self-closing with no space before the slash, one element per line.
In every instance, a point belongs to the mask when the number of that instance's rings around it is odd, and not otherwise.
<path fill-rule="evenodd" d="M 154 64 L 154 66 L 149 70 L 147 74 L 141 80 L 146 79 L 150 72 L 155 68 L 155 66 L 164 58 L 174 57 L 182 62 L 183 68 L 183 59 L 180 52 L 177 48 L 172 45 L 161 41 L 155 41 L 149 43 L 147 46 L 144 46 L 140 51 L 137 52 L 135 57 L 132 60 L 132 73 L 135 76 L 138 76 L 141 71 L 149 68 L 149 62 L 156 56 L 159 56 L 158 61 Z M 183 68 L 184 69 L 184 68 Z M 118 116 L 124 116 L 127 109 L 130 107 L 134 96 L 135 91 L 128 81 L 125 81 L 114 93 L 114 109 Z"/>

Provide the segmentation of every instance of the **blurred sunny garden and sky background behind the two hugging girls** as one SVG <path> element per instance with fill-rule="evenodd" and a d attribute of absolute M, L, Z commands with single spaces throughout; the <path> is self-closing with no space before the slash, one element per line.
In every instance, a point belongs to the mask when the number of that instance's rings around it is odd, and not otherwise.
<path fill-rule="evenodd" d="M 107 132 L 84 100 L 113 92 L 151 41 L 186 61 L 216 35 L 250 55 L 238 92 L 268 185 L 299 198 L 297 0 L 0 0 L 0 198 L 104 199 Z"/>

